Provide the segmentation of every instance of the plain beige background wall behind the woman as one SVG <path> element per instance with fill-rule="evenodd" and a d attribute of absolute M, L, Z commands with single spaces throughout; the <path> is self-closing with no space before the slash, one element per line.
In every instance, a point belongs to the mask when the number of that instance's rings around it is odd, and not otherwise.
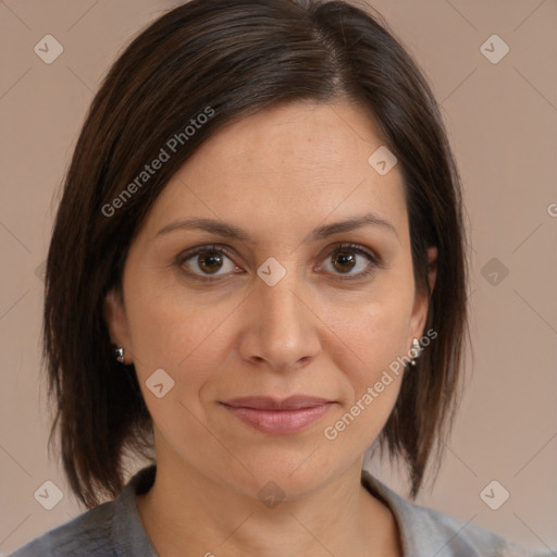
<path fill-rule="evenodd" d="M 40 265 L 53 196 L 110 63 L 177 3 L 0 2 L 0 554 L 81 512 L 48 458 L 39 373 Z M 473 243 L 469 386 L 437 482 L 419 502 L 529 545 L 557 547 L 557 1 L 373 5 L 442 102 Z M 34 52 L 47 34 L 64 48 L 50 65 Z M 493 34 L 510 48 L 497 64 L 480 50 Z M 496 285 L 495 268 L 485 267 L 492 258 L 499 262 L 490 265 L 508 269 Z M 367 466 L 405 491 L 395 473 Z M 47 480 L 64 493 L 50 511 L 34 498 Z M 510 493 L 498 510 L 480 498 L 492 480 Z"/>

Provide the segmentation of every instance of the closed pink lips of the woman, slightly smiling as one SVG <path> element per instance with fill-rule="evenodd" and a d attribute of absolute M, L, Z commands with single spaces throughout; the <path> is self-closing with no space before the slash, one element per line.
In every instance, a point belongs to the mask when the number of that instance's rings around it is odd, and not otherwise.
<path fill-rule="evenodd" d="M 221 403 L 244 422 L 265 433 L 295 433 L 318 421 L 334 404 L 325 398 L 294 395 L 283 400 L 265 396 Z"/>

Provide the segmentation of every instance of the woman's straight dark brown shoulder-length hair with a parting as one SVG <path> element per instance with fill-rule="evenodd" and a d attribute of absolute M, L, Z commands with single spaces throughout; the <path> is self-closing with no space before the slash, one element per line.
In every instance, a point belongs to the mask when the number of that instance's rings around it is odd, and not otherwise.
<path fill-rule="evenodd" d="M 373 115 L 405 181 L 414 280 L 437 277 L 425 329 L 437 338 L 405 374 L 380 435 L 408 466 L 418 493 L 450 428 L 467 333 L 460 182 L 438 107 L 417 65 L 380 16 L 342 1 L 194 0 L 140 33 L 89 109 L 69 168 L 46 270 L 44 358 L 70 486 L 88 508 L 125 483 L 126 453 L 153 458 L 152 421 L 135 368 L 116 362 L 103 319 L 121 288 L 128 248 L 171 176 L 225 124 L 277 103 L 348 99 Z M 107 206 L 198 114 L 148 184 L 113 215 Z M 128 189 L 129 190 L 129 189 Z M 103 210 L 104 208 L 104 210 Z"/>

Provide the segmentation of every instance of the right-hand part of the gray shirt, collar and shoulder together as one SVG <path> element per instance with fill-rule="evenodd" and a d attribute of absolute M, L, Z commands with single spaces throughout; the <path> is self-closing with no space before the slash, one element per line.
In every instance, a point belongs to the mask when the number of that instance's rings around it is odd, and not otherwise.
<path fill-rule="evenodd" d="M 368 471 L 362 483 L 391 508 L 398 523 L 405 556 L 552 557 L 550 550 L 522 547 L 470 521 L 465 522 L 403 498 Z"/>

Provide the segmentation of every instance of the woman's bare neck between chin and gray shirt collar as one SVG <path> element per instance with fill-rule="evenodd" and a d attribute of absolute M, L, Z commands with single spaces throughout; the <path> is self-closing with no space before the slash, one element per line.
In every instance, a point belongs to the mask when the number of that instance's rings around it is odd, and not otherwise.
<path fill-rule="evenodd" d="M 276 492 L 274 504 L 159 461 L 151 490 L 136 502 L 160 557 L 401 555 L 391 510 L 361 484 L 361 461 L 304 496 L 281 500 Z"/>

